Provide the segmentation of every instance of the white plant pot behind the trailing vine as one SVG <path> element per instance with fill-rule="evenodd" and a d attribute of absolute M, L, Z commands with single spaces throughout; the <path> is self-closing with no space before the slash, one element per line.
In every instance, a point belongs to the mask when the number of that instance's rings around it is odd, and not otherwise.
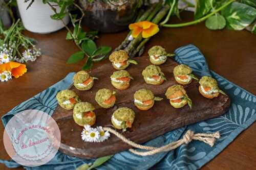
<path fill-rule="evenodd" d="M 54 11 L 48 4 L 43 4 L 42 0 L 35 0 L 29 9 L 29 3 L 24 3 L 23 0 L 18 0 L 17 5 L 23 25 L 30 32 L 47 34 L 65 27 L 61 20 L 53 20 L 50 17 Z M 55 8 L 57 11 L 60 10 L 57 6 Z M 63 21 L 67 25 L 70 21 L 69 16 L 65 16 Z"/>

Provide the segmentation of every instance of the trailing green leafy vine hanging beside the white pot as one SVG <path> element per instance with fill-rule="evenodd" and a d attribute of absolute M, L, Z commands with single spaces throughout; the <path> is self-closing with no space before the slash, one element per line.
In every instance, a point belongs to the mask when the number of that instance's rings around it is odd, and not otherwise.
<path fill-rule="evenodd" d="M 30 0 L 25 0 L 25 2 L 29 2 Z M 28 8 L 34 1 L 31 0 Z M 72 25 L 74 27 L 73 32 L 66 26 L 68 33 L 66 35 L 66 40 L 73 40 L 75 44 L 80 48 L 80 52 L 72 54 L 67 63 L 73 64 L 81 61 L 86 55 L 87 61 L 83 65 L 82 69 L 90 69 L 93 66 L 93 62 L 101 61 L 105 58 L 105 56 L 111 51 L 111 47 L 109 46 L 100 46 L 97 48 L 96 43 L 93 41 L 97 38 L 98 31 L 84 32 L 81 27 L 81 20 L 84 16 L 82 9 L 75 4 L 75 0 L 42 0 L 44 4 L 48 4 L 55 14 L 51 15 L 52 19 L 62 20 L 67 14 L 69 14 L 71 18 Z M 93 1 L 92 1 L 93 2 Z M 54 3 L 54 4 L 52 4 Z M 59 12 L 55 8 L 55 6 L 60 7 Z M 77 18 L 77 14 L 68 13 L 68 7 L 70 5 L 76 6 L 80 12 L 81 17 Z M 80 46 L 81 44 L 81 46 Z"/>

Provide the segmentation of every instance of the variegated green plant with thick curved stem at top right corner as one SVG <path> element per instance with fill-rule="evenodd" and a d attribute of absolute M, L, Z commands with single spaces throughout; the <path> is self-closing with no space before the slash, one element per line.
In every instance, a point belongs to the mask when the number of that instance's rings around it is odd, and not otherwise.
<path fill-rule="evenodd" d="M 182 0 L 190 7 L 191 4 Z M 174 2 L 167 0 L 166 2 Z M 256 18 L 256 1 L 255 0 L 197 0 L 196 10 L 194 13 L 195 20 L 177 24 L 161 24 L 163 27 L 178 28 L 195 25 L 206 20 L 205 26 L 211 30 L 220 30 L 227 26 L 233 30 L 243 30 L 251 25 Z M 221 12 L 221 14 L 220 14 Z M 166 17 L 167 18 L 167 17 Z M 166 20 L 166 19 L 165 19 Z M 252 32 L 255 31 L 255 26 Z"/>

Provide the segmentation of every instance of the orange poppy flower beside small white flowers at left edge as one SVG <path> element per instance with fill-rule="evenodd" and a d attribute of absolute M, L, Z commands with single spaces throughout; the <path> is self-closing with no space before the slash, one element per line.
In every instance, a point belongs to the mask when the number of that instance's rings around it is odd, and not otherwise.
<path fill-rule="evenodd" d="M 25 64 L 10 61 L 0 65 L 0 73 L 4 71 L 10 71 L 12 76 L 18 78 L 27 72 L 27 68 Z"/>

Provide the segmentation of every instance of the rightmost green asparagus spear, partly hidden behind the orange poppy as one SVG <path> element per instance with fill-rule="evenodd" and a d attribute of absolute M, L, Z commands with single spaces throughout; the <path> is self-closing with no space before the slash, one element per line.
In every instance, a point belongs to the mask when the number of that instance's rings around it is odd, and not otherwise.
<path fill-rule="evenodd" d="M 165 5 L 156 15 L 156 17 L 152 20 L 153 23 L 158 24 L 162 18 L 166 15 L 169 10 L 169 6 Z M 141 35 L 140 35 L 141 36 Z M 151 37 L 145 38 L 140 44 L 136 47 L 136 49 L 132 52 L 131 57 L 135 57 L 135 55 L 140 52 L 141 48 L 145 45 L 145 43 L 150 40 Z"/>

